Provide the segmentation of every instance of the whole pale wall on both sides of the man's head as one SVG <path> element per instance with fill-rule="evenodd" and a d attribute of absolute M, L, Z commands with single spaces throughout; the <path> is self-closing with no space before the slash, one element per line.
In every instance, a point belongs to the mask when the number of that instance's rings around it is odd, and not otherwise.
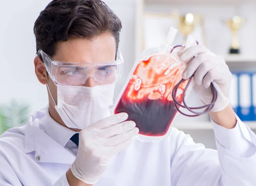
<path fill-rule="evenodd" d="M 0 104 L 11 99 L 28 103 L 31 112 L 48 103 L 47 90 L 34 73 L 35 37 L 33 26 L 41 10 L 50 0 L 1 1 L 0 7 Z M 134 62 L 134 2 L 106 0 L 123 23 L 120 50 L 125 72 L 116 85 L 116 95 Z M 11 8 L 11 10 L 10 10 Z M 115 97 L 116 97 L 115 95 Z"/>

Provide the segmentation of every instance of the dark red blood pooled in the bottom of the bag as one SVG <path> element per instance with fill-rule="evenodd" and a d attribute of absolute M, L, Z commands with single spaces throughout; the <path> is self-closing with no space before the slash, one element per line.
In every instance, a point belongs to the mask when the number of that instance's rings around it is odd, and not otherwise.
<path fill-rule="evenodd" d="M 115 113 L 127 113 L 127 121 L 134 121 L 141 135 L 163 136 L 168 132 L 177 110 L 173 101 L 162 99 L 128 101 L 121 98 Z"/>

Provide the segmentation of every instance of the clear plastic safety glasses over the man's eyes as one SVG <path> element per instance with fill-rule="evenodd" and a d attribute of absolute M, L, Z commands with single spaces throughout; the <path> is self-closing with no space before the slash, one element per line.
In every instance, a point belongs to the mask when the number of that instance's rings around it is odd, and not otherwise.
<path fill-rule="evenodd" d="M 123 71 L 124 61 L 119 51 L 116 55 L 116 61 L 113 62 L 59 62 L 42 50 L 38 51 L 38 56 L 41 56 L 44 61 L 52 81 L 61 85 L 81 86 L 85 84 L 88 78 L 93 78 L 97 85 L 108 85 L 115 83 Z"/>

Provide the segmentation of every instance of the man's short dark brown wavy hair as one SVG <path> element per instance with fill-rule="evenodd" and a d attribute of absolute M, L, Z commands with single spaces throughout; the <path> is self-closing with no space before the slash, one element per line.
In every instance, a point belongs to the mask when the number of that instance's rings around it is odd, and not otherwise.
<path fill-rule="evenodd" d="M 101 0 L 53 0 L 35 21 L 36 50 L 53 56 L 58 41 L 93 39 L 106 31 L 116 39 L 117 50 L 121 29 L 119 18 Z"/>

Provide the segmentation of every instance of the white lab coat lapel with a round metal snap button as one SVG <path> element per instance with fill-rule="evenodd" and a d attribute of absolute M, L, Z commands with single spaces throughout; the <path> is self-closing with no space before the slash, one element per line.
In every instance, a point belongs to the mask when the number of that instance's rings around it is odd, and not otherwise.
<path fill-rule="evenodd" d="M 46 110 L 43 111 L 44 116 Z M 29 117 L 25 132 L 25 153 L 35 151 L 35 161 L 38 162 L 73 163 L 76 157 L 42 130 L 40 123 L 44 116 L 40 110 Z"/>

